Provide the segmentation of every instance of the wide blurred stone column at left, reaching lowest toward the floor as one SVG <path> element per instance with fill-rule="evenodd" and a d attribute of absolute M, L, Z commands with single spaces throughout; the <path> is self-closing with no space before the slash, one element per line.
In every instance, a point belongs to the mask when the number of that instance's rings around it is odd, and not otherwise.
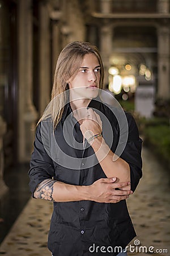
<path fill-rule="evenodd" d="M 33 148 L 37 112 L 32 100 L 32 0 L 19 1 L 19 162 L 28 162 Z"/>

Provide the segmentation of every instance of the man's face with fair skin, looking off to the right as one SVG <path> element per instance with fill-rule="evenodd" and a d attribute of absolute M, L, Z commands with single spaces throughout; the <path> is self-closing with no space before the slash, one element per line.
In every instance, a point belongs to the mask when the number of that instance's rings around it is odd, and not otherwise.
<path fill-rule="evenodd" d="M 69 81 L 73 98 L 95 98 L 99 92 L 100 64 L 94 53 L 84 56 L 77 75 Z"/>

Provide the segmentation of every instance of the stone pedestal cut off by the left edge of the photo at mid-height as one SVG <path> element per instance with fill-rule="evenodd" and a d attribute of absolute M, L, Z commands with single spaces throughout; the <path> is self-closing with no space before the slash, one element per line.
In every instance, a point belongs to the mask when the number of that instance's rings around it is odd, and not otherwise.
<path fill-rule="evenodd" d="M 3 171 L 4 171 L 4 156 L 3 156 L 3 135 L 6 133 L 6 123 L 3 121 L 0 115 L 0 201 L 3 199 L 3 196 L 6 195 L 8 187 L 6 186 L 3 180 Z"/>

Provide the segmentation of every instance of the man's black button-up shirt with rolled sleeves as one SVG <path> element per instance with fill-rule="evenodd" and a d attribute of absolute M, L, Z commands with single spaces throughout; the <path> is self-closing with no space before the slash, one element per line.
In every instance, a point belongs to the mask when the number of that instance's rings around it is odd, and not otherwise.
<path fill-rule="evenodd" d="M 120 139 L 120 126 L 114 115 L 116 110 L 113 113 L 107 105 L 98 100 L 91 100 L 88 107 L 100 114 L 103 122 L 103 137 L 115 152 Z M 62 119 L 54 130 L 53 146 L 49 146 L 52 138 L 48 135 L 50 127 L 53 127 L 49 125 L 51 122 L 46 121 L 44 128 L 46 133 L 42 131 L 43 121 L 36 129 L 29 170 L 29 186 L 32 193 L 41 181 L 49 178 L 67 184 L 90 185 L 106 177 L 97 162 L 93 148 L 87 141 L 83 144 L 80 125 L 71 111 L 70 104 L 67 104 Z M 134 191 L 142 177 L 142 140 L 139 138 L 132 115 L 125 113 L 125 116 L 129 131 L 128 141 L 121 152 L 121 158 L 129 163 L 131 190 Z M 135 231 L 126 200 L 116 204 L 83 200 L 54 202 L 48 237 L 48 247 L 54 256 L 82 256 L 91 255 L 92 252 L 94 255 L 103 255 L 100 249 L 106 251 L 105 255 L 117 255 L 117 252 L 114 253 L 114 247 L 121 246 L 123 249 L 134 237 Z M 101 246 L 105 247 L 101 248 Z"/>

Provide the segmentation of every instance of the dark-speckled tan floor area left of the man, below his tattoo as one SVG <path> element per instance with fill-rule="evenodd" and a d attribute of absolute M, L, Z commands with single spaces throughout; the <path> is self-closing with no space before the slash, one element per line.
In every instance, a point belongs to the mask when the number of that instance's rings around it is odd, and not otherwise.
<path fill-rule="evenodd" d="M 2 242 L 0 255 L 51 255 L 46 247 L 51 214 L 51 202 L 30 199 Z"/>

